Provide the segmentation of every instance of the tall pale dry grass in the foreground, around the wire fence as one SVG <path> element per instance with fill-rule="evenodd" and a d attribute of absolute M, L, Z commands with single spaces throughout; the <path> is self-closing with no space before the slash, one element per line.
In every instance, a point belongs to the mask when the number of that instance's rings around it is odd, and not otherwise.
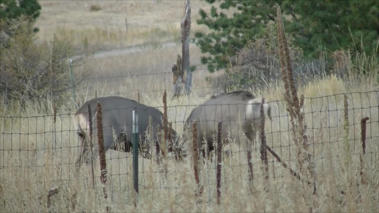
<path fill-rule="evenodd" d="M 338 84 L 338 85 L 335 85 Z M 321 85 L 321 86 L 320 86 Z M 330 95 L 327 86 L 336 86 L 336 94 L 351 91 L 371 91 L 373 88 L 363 86 L 346 86 L 335 77 L 310 83 L 305 88 L 300 88 L 305 95 L 305 121 L 308 125 L 310 140 L 309 151 L 314 156 L 316 171 L 318 174 L 318 195 L 314 197 L 318 203 L 314 211 L 360 211 L 377 212 L 378 200 L 378 169 L 379 146 L 377 140 L 379 133 L 378 121 L 378 92 L 366 94 L 348 94 L 349 101 L 349 135 L 348 141 L 355 153 L 351 156 L 351 178 L 347 179 L 344 162 L 344 96 Z M 310 89 L 313 88 L 313 89 Z M 319 88 L 316 90 L 315 88 Z M 324 88 L 324 89 L 323 89 Z M 347 89 L 348 88 L 348 89 Z M 288 133 L 289 117 L 285 109 L 284 101 L 276 94 L 283 93 L 283 86 L 278 86 L 272 91 L 266 91 L 266 100 L 272 106 L 273 121 L 266 120 L 265 132 L 267 146 L 271 147 L 280 158 L 291 168 L 294 165 L 296 148 Z M 377 90 L 377 88 L 376 88 Z M 196 91 L 196 90 L 195 90 Z M 262 91 L 263 92 L 263 91 Z M 168 120 L 173 122 L 173 128 L 179 133 L 183 128 L 183 122 L 194 105 L 204 102 L 211 96 L 199 97 L 191 95 L 189 99 L 168 99 Z M 161 93 L 162 94 L 162 93 Z M 160 94 L 160 95 L 161 95 Z M 172 94 L 168 93 L 168 96 Z M 126 96 L 128 97 L 128 96 Z M 319 97 L 308 99 L 308 97 Z M 149 103 L 159 106 L 163 111 L 161 96 L 150 96 Z M 274 102 L 273 102 L 274 101 Z M 44 103 L 41 103 L 44 104 Z M 182 105 L 182 106 L 178 106 Z M 354 108 L 353 108 L 354 106 Z M 246 147 L 238 147 L 235 144 L 227 145 L 224 149 L 231 149 L 232 155 L 223 156 L 221 172 L 221 196 L 220 206 L 216 205 L 216 165 L 215 163 L 199 164 L 200 185 L 204 191 L 200 204 L 196 205 L 196 183 L 193 175 L 191 156 L 183 162 L 168 161 L 167 179 L 164 178 L 163 168 L 155 161 L 139 158 L 139 203 L 134 208 L 133 200 L 133 176 L 132 158 L 129 153 L 114 150 L 106 153 L 108 181 L 106 191 L 108 201 L 103 199 L 102 185 L 99 176 L 95 177 L 96 188 L 92 189 L 91 166 L 83 166 L 81 173 L 75 170 L 75 156 L 79 151 L 79 140 L 73 131 L 74 126 L 69 111 L 63 107 L 58 108 L 56 116 L 56 146 L 53 146 L 53 116 L 29 117 L 29 118 L 1 118 L 0 126 L 0 166 L 1 171 L 1 209 L 4 212 L 14 211 L 46 211 L 47 201 L 44 198 L 47 191 L 55 186 L 60 192 L 52 197 L 51 208 L 54 211 L 104 211 L 109 205 L 110 211 L 306 211 L 307 202 L 296 190 L 307 191 L 309 189 L 299 186 L 299 182 L 287 169 L 277 163 L 271 155 L 269 160 L 269 198 L 263 199 L 264 175 L 259 168 L 263 163 L 259 158 L 259 148 L 252 152 L 254 165 L 254 183 L 249 182 L 247 168 Z M 69 112 L 73 113 L 73 112 Z M 63 114 L 63 115 L 60 115 Z M 2 111 L 2 116 L 6 113 Z M 42 116 L 38 110 L 30 107 L 28 111 L 20 112 L 19 116 Z M 370 117 L 366 127 L 366 154 L 365 175 L 368 185 L 352 185 L 352 193 L 338 194 L 346 191 L 350 182 L 360 180 L 359 153 L 360 145 L 360 120 L 362 117 Z M 12 133 L 12 134 L 9 134 Z M 19 134 L 22 133 L 22 134 Z M 55 132 L 54 132 L 55 134 Z M 96 143 L 96 142 L 95 142 Z M 97 146 L 95 144 L 95 146 Z M 54 149 L 52 149 L 54 148 Z M 274 162 L 273 162 L 274 160 Z M 289 161 L 291 160 L 291 161 Z M 200 161 L 201 162 L 201 161 Z M 215 162 L 215 160 L 214 160 Z M 95 174 L 100 174 L 99 163 L 94 164 Z M 159 172 L 161 171 L 161 172 Z M 296 171 L 296 169 L 295 169 Z M 162 176 L 163 175 L 163 176 Z M 19 185 L 25 187 L 19 187 Z M 250 190 L 251 189 L 251 190 Z M 72 198 L 76 195 L 76 198 Z M 333 196 L 330 199 L 328 196 Z M 360 196 L 359 200 L 352 200 L 351 196 Z M 42 199 L 38 199 L 42 197 Z M 202 201 L 202 202 L 201 202 Z M 41 204 L 40 204 L 41 202 Z M 75 209 L 72 203 L 76 202 Z"/>

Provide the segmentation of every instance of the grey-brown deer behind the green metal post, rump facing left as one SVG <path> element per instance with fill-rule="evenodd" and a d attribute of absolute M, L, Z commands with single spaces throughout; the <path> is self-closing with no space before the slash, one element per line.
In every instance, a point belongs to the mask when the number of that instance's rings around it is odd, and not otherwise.
<path fill-rule="evenodd" d="M 91 107 L 92 115 L 92 144 L 97 144 L 97 128 L 96 128 L 96 111 L 97 102 L 100 102 L 102 107 L 102 127 L 103 127 L 103 138 L 104 138 L 104 148 L 105 152 L 114 149 L 118 150 L 117 145 L 124 145 L 124 152 L 131 152 L 132 149 L 132 126 L 133 126 L 133 110 L 136 109 L 138 113 L 138 131 L 139 131 L 139 151 L 143 152 L 143 157 L 149 159 L 150 146 L 152 145 L 145 135 L 149 126 L 149 116 L 151 116 L 152 132 L 153 138 L 152 142 L 157 147 L 157 153 L 159 153 L 159 140 L 157 134 L 157 128 L 162 128 L 163 113 L 154 107 L 149 107 L 147 105 L 136 102 L 132 99 L 127 99 L 124 97 L 108 96 L 108 97 L 98 97 L 85 102 L 74 114 L 74 125 L 78 137 L 80 138 L 80 153 L 78 153 L 77 160 L 75 161 L 77 169 L 81 167 L 83 158 L 88 152 L 87 143 L 90 139 L 89 131 L 89 113 L 88 105 Z M 169 127 L 168 127 L 169 128 Z M 178 138 L 179 136 L 172 128 L 169 129 L 172 138 Z M 113 131 L 116 135 L 116 140 L 113 138 Z M 149 130 L 151 131 L 151 130 Z M 175 141 L 178 141 L 175 139 Z M 167 142 L 166 142 L 167 143 Z M 122 146 L 121 146 L 122 147 Z M 179 148 L 178 148 L 179 149 Z M 93 155 L 99 156 L 98 146 L 93 146 Z M 168 149 L 169 152 L 173 152 L 172 146 Z M 162 151 L 163 153 L 163 151 Z M 178 150 L 175 153 L 180 153 Z M 88 157 L 87 157 L 88 158 Z M 158 158 L 158 156 L 157 156 Z M 177 158 L 177 156 L 175 156 Z M 180 160 L 180 156 L 178 157 Z M 158 159 L 157 159 L 158 162 Z M 86 161 L 88 163 L 88 160 Z"/>

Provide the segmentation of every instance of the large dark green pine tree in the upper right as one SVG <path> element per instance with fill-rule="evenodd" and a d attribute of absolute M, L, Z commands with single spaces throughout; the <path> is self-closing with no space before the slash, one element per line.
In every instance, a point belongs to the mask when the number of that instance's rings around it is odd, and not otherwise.
<path fill-rule="evenodd" d="M 377 0 L 215 0 L 209 13 L 199 10 L 198 24 L 211 32 L 196 32 L 194 42 L 200 47 L 201 62 L 208 70 L 226 67 L 232 57 L 249 40 L 260 38 L 280 5 L 286 31 L 294 35 L 295 44 L 304 50 L 306 58 L 316 58 L 323 47 L 329 51 L 354 48 L 373 53 L 379 39 L 379 1 Z M 224 13 L 233 9 L 233 16 Z M 360 47 L 360 42 L 363 47 Z M 233 63 L 233 60 L 231 60 Z M 217 67 L 216 67 L 217 66 Z"/>

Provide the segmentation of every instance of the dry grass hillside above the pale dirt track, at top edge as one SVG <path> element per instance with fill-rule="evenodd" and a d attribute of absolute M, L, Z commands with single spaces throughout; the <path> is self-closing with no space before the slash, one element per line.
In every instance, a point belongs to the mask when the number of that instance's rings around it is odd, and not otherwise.
<path fill-rule="evenodd" d="M 119 49 L 127 46 L 180 42 L 180 19 L 184 1 L 49 1 L 40 2 L 42 12 L 36 25 L 40 41 L 50 41 L 52 32 L 70 38 L 78 52 Z M 94 12 L 92 6 L 101 8 Z M 207 28 L 197 25 L 203 1 L 192 1 L 191 34 Z M 91 8 L 91 10 L 89 9 Z M 127 26 L 125 25 L 127 18 Z"/>

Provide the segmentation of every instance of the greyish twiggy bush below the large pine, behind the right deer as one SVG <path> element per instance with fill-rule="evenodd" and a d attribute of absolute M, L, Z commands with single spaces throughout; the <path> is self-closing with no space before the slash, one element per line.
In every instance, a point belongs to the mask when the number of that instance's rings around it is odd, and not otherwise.
<path fill-rule="evenodd" d="M 232 65 L 229 65 L 226 73 L 213 79 L 216 91 L 265 88 L 269 83 L 281 80 L 275 25 L 269 26 L 261 37 L 249 41 L 234 58 L 229 59 Z M 323 60 L 303 60 L 303 51 L 294 44 L 294 37 L 287 34 L 287 38 L 294 77 L 301 79 L 299 83 L 303 84 L 305 80 L 325 72 Z"/>

